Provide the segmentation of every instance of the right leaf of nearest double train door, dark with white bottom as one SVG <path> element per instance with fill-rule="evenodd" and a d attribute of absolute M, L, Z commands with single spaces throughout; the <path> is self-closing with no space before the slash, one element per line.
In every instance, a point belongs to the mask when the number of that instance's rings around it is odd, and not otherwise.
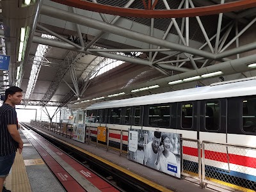
<path fill-rule="evenodd" d="M 199 140 L 226 143 L 227 99 L 202 100 L 200 102 Z"/>

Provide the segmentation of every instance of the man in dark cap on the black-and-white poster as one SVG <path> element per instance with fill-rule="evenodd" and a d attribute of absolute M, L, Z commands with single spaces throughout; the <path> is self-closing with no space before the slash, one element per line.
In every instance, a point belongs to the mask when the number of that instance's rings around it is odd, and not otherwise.
<path fill-rule="evenodd" d="M 145 146 L 145 154 L 144 154 L 144 160 L 143 164 L 147 165 L 151 168 L 156 169 L 156 159 L 157 159 L 157 154 L 158 154 L 158 148 L 161 143 L 161 132 L 155 131 L 154 132 L 154 137 L 153 141 L 150 141 L 146 146 Z"/>

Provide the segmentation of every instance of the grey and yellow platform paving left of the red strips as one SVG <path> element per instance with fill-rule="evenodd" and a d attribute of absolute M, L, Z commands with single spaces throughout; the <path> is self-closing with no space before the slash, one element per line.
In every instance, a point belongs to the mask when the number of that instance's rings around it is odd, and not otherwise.
<path fill-rule="evenodd" d="M 19 130 L 19 132 L 24 148 L 22 154 L 16 153 L 12 169 L 5 181 L 6 189 L 12 192 L 65 191 L 26 138 L 26 131 Z"/>

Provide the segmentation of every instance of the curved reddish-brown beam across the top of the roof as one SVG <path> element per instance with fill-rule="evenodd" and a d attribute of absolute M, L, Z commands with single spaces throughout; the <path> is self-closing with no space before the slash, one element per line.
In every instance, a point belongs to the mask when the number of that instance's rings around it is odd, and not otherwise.
<path fill-rule="evenodd" d="M 110 15 L 120 15 L 123 17 L 143 17 L 143 18 L 180 18 L 195 17 L 202 15 L 214 15 L 218 13 L 233 12 L 252 8 L 256 6 L 256 2 L 252 0 L 241 0 L 225 4 L 214 4 L 198 8 L 189 8 L 182 10 L 139 10 L 130 8 L 120 8 L 105 4 L 96 4 L 90 1 L 81 0 L 52 0 L 57 3 L 74 6 L 76 8 L 89 10 L 92 12 L 107 13 Z"/>

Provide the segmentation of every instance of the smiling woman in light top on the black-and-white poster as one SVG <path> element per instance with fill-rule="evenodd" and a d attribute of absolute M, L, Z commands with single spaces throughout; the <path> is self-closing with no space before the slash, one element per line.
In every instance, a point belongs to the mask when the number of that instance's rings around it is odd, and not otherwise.
<path fill-rule="evenodd" d="M 157 170 L 179 177 L 177 159 L 171 152 L 173 145 L 170 135 L 162 134 L 160 145 L 156 159 Z"/>

